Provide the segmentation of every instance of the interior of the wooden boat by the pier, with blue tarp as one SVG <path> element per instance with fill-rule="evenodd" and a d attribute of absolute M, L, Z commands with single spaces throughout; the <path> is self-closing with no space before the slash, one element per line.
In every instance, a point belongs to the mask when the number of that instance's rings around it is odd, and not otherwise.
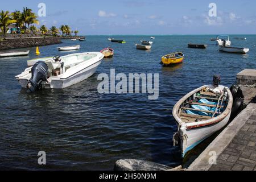
<path fill-rule="evenodd" d="M 218 93 L 214 90 L 216 89 L 205 87 L 187 98 L 178 110 L 180 119 L 187 123 L 205 121 L 225 111 L 228 105 L 228 93 L 225 88 Z"/>

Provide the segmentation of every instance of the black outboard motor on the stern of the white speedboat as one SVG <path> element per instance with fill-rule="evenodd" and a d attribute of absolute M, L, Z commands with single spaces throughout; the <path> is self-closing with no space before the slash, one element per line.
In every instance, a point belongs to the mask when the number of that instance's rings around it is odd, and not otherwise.
<path fill-rule="evenodd" d="M 27 84 L 27 92 L 35 92 L 36 89 L 42 88 L 42 81 L 47 81 L 48 66 L 43 61 L 38 61 L 31 69 L 32 77 Z"/>

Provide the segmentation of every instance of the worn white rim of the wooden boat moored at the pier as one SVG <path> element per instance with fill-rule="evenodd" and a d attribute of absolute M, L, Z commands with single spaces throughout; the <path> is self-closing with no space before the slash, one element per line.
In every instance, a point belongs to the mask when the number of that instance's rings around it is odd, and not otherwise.
<path fill-rule="evenodd" d="M 212 85 L 203 85 L 200 88 L 197 88 L 195 90 L 192 90 L 191 92 L 187 93 L 184 97 L 182 97 L 174 106 L 174 109 L 172 110 L 172 115 L 175 118 L 175 121 L 180 125 L 180 126 L 185 126 L 186 129 L 195 129 L 195 128 L 199 128 L 199 127 L 203 127 L 203 126 L 209 126 L 209 125 L 213 125 L 215 123 L 218 123 L 220 121 L 222 121 L 223 119 L 225 119 L 228 114 L 231 112 L 232 110 L 232 105 L 233 105 L 233 97 L 232 97 L 232 93 L 230 92 L 229 88 L 225 87 L 226 92 L 228 92 L 228 105 L 226 106 L 225 111 L 223 111 L 220 115 L 218 115 L 217 117 L 211 118 L 211 119 L 207 119 L 204 121 L 199 121 L 199 122 L 190 122 L 190 123 L 186 123 L 183 122 L 179 115 L 178 115 L 178 111 L 180 109 L 181 104 L 183 104 L 189 97 L 191 97 L 193 94 L 195 94 L 196 92 L 199 92 L 200 90 L 202 90 L 205 87 L 209 87 Z"/>

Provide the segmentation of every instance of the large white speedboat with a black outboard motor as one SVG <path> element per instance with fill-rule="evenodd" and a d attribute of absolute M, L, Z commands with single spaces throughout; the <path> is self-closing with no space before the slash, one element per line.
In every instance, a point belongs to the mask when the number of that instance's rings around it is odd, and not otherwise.
<path fill-rule="evenodd" d="M 63 89 L 92 76 L 103 57 L 101 52 L 55 56 L 52 60 L 36 62 L 16 79 L 22 88 L 28 88 L 28 92 L 42 88 Z"/>

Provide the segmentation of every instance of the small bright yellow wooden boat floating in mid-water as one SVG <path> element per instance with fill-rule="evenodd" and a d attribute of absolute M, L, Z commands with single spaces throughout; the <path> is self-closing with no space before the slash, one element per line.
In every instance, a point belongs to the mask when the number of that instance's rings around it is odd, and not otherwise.
<path fill-rule="evenodd" d="M 161 63 L 164 66 L 182 63 L 184 60 L 184 54 L 182 52 L 170 53 L 162 57 Z"/>

